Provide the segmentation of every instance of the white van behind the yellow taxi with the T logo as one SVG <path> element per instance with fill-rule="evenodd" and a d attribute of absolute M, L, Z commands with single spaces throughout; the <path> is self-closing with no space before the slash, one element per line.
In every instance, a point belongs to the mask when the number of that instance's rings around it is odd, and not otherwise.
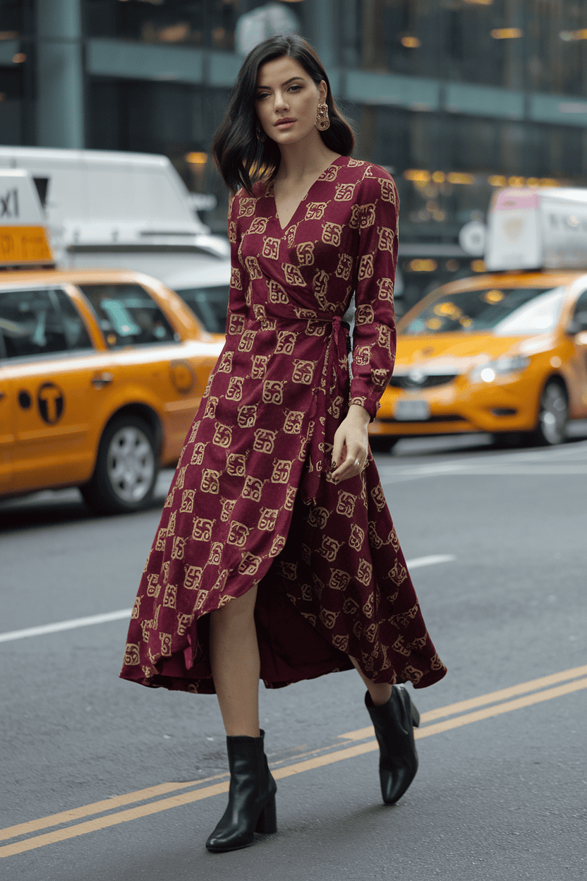
<path fill-rule="evenodd" d="M 32 175 L 58 266 L 144 272 L 180 293 L 210 332 L 224 332 L 229 242 L 202 224 L 165 156 L 0 147 L 1 168 Z"/>

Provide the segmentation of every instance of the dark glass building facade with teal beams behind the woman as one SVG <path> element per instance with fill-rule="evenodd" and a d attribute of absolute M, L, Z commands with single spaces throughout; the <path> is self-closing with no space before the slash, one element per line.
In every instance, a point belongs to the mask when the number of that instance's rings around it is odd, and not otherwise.
<path fill-rule="evenodd" d="M 165 153 L 222 232 L 210 140 L 245 25 L 282 19 L 318 49 L 356 156 L 398 183 L 404 307 L 482 268 L 459 229 L 495 188 L 587 183 L 576 0 L 0 0 L 0 144 Z"/>

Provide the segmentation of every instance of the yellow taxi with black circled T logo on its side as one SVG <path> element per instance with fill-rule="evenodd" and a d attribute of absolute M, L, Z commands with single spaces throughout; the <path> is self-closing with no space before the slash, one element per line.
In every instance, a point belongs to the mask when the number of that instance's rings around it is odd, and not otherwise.
<path fill-rule="evenodd" d="M 136 272 L 0 272 L 0 497 L 79 486 L 100 512 L 147 507 L 223 344 Z"/>

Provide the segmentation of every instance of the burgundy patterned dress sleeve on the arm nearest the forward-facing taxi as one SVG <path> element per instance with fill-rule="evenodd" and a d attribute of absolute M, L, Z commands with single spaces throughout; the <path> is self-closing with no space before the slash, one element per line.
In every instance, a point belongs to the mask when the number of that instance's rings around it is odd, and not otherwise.
<path fill-rule="evenodd" d="M 378 176 L 363 178 L 353 212 L 359 228 L 359 253 L 349 403 L 361 404 L 372 421 L 395 361 L 393 281 L 398 259 L 399 198 L 389 174 L 373 167 L 371 173 Z"/>

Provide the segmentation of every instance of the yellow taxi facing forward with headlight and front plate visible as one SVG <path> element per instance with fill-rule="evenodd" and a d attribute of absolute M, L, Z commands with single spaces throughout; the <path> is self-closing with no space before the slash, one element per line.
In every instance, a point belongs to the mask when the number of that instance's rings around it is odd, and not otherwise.
<path fill-rule="evenodd" d="M 451 282 L 398 323 L 374 448 L 401 437 L 490 432 L 539 444 L 587 417 L 587 275 L 506 271 Z"/>

